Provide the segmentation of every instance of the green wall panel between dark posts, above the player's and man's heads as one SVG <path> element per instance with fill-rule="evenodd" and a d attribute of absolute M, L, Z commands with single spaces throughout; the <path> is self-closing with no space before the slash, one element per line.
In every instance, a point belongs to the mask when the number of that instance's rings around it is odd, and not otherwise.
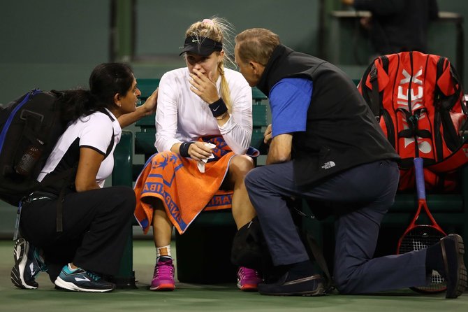
<path fill-rule="evenodd" d="M 292 48 L 315 53 L 318 1 L 138 0 L 137 54 L 178 55 L 186 29 L 198 20 L 224 17 L 238 32 L 263 27 Z"/>

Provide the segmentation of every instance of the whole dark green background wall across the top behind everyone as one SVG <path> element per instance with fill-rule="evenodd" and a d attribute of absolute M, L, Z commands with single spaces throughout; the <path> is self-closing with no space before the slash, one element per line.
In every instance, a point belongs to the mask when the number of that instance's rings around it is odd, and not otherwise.
<path fill-rule="evenodd" d="M 110 3 L 112 0 L 0 0 L 0 104 L 6 104 L 34 87 L 65 89 L 87 86 L 93 67 L 108 62 L 110 55 Z M 131 16 L 131 0 L 117 0 L 119 16 Z M 122 5 L 124 3 L 124 5 Z M 234 33 L 250 27 L 265 27 L 279 34 L 284 44 L 316 54 L 327 52 L 333 58 L 338 45 L 330 37 L 331 10 L 344 10 L 339 0 L 325 0 L 326 45 L 319 45 L 319 0 L 136 0 L 135 53 L 132 62 L 136 76 L 160 77 L 165 71 L 184 66 L 177 57 L 189 24 L 217 15 L 235 27 Z M 468 1 L 439 0 L 444 11 L 467 17 Z M 128 25 L 127 23 L 126 25 Z M 464 24 L 468 32 L 467 22 Z M 130 29 L 117 29 L 129 36 Z M 365 64 L 368 43 L 353 45 L 353 27 L 341 29 L 339 54 L 347 55 L 337 64 L 353 78 L 362 73 L 356 66 L 357 53 Z M 117 37 L 118 43 L 129 42 Z M 120 40 L 120 41 L 119 41 Z M 122 45 L 120 45 L 122 47 Z M 431 52 L 455 61 L 455 30 L 452 25 L 432 25 Z M 356 52 L 357 51 L 357 52 Z M 126 51 L 125 51 L 126 52 Z M 335 53 L 335 54 L 334 54 Z M 125 53 L 124 53 L 125 54 Z M 122 55 L 122 54 L 121 54 Z M 465 59 L 468 48 L 465 43 Z M 335 59 L 333 59 L 335 60 Z M 467 67 L 465 62 L 465 68 Z M 468 70 L 465 69 L 465 81 Z"/>

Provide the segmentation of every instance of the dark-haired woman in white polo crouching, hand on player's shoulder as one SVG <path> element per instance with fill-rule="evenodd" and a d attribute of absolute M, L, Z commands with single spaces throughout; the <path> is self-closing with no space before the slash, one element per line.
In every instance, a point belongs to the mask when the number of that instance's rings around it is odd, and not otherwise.
<path fill-rule="evenodd" d="M 103 185 L 122 127 L 154 113 L 157 90 L 136 108 L 140 90 L 130 67 L 121 63 L 96 66 L 89 88 L 60 92 L 57 100 L 68 126 L 38 176 L 43 186 L 22 201 L 22 237 L 11 271 L 18 288 L 38 288 L 35 277 L 47 271 L 57 289 L 115 289 L 102 277 L 117 273 L 127 240 L 122 229 L 131 227 L 136 199 L 131 187 Z"/>

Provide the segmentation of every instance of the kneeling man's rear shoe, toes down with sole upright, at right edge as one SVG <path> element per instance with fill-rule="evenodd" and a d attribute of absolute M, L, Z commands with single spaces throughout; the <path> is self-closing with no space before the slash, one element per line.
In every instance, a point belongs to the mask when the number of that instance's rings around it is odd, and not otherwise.
<path fill-rule="evenodd" d="M 458 234 L 449 234 L 440 240 L 444 271 L 439 271 L 447 282 L 446 298 L 456 298 L 467 288 L 467 268 L 463 262 L 465 246 Z"/>

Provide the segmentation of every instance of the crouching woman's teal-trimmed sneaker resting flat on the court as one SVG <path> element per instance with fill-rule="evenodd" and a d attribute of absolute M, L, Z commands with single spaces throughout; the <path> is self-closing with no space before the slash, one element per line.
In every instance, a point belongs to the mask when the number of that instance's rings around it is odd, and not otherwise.
<path fill-rule="evenodd" d="M 54 282 L 59 288 L 75 292 L 111 292 L 115 284 L 104 281 L 101 276 L 84 269 L 71 269 L 66 265 L 61 269 L 59 277 Z"/>

